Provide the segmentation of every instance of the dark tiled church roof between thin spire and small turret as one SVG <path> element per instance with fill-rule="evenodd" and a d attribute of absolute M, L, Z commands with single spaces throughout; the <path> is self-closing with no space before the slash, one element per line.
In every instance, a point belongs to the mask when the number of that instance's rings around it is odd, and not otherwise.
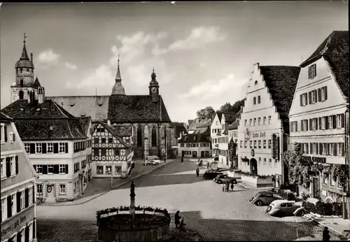
<path fill-rule="evenodd" d="M 153 102 L 150 95 L 111 96 L 108 119 L 114 122 L 172 122 L 162 97 Z"/>

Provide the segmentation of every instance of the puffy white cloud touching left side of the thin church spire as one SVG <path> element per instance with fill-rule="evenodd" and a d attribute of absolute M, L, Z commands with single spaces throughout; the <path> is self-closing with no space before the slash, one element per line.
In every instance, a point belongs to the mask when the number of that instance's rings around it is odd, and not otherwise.
<path fill-rule="evenodd" d="M 95 69 L 90 70 L 90 73 L 80 82 L 66 83 L 68 88 L 80 89 L 81 87 L 113 87 L 115 80 L 109 66 L 102 64 Z"/>

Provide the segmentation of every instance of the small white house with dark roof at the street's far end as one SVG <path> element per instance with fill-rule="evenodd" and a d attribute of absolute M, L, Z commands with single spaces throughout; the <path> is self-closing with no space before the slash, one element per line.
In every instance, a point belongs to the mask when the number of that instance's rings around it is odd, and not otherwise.
<path fill-rule="evenodd" d="M 186 134 L 179 140 L 179 155 L 182 157 L 211 157 L 210 136 Z"/>

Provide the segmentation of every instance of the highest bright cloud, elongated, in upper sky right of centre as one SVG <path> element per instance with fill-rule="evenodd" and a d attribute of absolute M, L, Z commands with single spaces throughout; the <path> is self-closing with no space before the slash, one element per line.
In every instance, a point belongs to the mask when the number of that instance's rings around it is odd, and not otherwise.
<path fill-rule="evenodd" d="M 169 50 L 188 50 L 201 48 L 208 43 L 223 41 L 225 36 L 219 27 L 197 27 L 191 31 L 190 36 L 183 40 L 175 41 L 169 45 Z"/>

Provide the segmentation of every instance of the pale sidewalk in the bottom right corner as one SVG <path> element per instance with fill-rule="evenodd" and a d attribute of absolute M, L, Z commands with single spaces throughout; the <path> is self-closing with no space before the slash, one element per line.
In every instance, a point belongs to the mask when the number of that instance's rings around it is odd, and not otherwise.
<path fill-rule="evenodd" d="M 350 220 L 344 220 L 343 218 L 318 218 L 310 213 L 305 214 L 304 218 L 317 222 L 322 227 L 328 227 L 330 231 L 339 235 L 341 239 L 350 240 Z"/>

